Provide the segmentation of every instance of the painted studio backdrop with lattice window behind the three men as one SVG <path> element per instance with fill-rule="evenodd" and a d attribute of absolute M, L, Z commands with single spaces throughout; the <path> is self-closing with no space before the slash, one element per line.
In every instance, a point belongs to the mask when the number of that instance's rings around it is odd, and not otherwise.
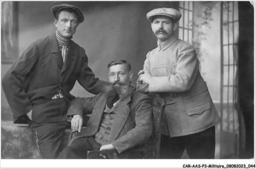
<path fill-rule="evenodd" d="M 50 8 L 63 3 L 78 6 L 84 14 L 84 22 L 72 40 L 85 49 L 96 77 L 108 81 L 108 63 L 125 59 L 134 72 L 132 84 L 136 84 L 147 52 L 157 47 L 146 14 L 162 7 L 179 10 L 182 18 L 174 34 L 194 45 L 200 72 L 222 118 L 216 126 L 215 157 L 240 158 L 239 153 L 245 147 L 245 122 L 239 113 L 238 42 L 239 29 L 242 29 L 239 15 L 246 14 L 238 8 L 237 1 L 2 2 L 1 76 L 33 41 L 55 32 Z M 79 97 L 92 96 L 78 83 L 71 93 Z M 2 121 L 12 120 L 3 91 L 1 103 Z M 187 158 L 186 153 L 183 158 Z"/>

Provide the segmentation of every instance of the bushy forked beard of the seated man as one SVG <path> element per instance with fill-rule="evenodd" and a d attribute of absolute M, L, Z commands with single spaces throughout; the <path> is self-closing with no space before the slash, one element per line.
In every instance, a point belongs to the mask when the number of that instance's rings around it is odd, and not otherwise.
<path fill-rule="evenodd" d="M 118 86 L 115 84 L 106 85 L 104 87 L 104 93 L 108 97 L 118 96 L 120 99 L 124 99 L 130 94 L 130 85 L 119 84 Z"/>

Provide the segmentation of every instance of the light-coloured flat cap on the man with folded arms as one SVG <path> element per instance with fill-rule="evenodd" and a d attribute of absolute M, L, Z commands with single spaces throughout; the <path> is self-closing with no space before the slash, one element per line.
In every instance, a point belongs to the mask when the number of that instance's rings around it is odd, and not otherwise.
<path fill-rule="evenodd" d="M 178 10 L 173 8 L 157 8 L 147 13 L 147 18 L 151 22 L 153 21 L 154 16 L 168 16 L 173 19 L 174 23 L 178 22 L 181 18 L 181 14 Z"/>

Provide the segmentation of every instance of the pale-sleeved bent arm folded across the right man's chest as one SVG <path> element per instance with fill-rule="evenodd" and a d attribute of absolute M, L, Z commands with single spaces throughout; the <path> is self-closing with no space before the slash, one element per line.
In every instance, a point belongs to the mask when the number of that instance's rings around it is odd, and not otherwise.
<path fill-rule="evenodd" d="M 192 45 L 178 52 L 175 74 L 163 77 L 141 75 L 140 80 L 149 84 L 149 92 L 184 92 L 190 89 L 199 69 L 199 60 Z"/>

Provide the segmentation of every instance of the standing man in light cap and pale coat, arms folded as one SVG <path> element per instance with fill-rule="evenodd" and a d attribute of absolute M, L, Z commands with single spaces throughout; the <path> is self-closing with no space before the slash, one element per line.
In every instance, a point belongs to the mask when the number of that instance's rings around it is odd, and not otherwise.
<path fill-rule="evenodd" d="M 220 117 L 199 72 L 194 47 L 173 34 L 181 14 L 158 8 L 146 16 L 158 47 L 148 52 L 137 89 L 164 102 L 161 158 L 180 159 L 186 149 L 191 159 L 214 159 L 215 125 Z"/>

